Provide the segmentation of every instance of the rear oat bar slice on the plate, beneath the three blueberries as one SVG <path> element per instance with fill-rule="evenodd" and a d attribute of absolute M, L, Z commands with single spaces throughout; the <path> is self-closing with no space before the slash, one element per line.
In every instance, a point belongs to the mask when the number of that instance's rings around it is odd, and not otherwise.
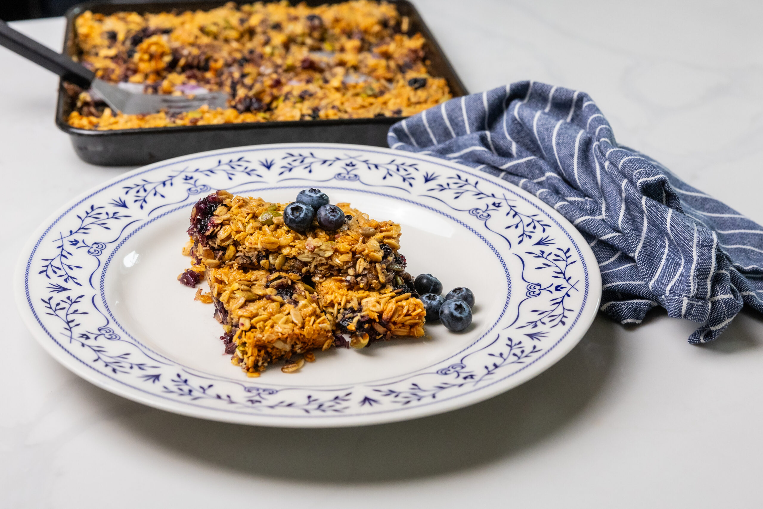
<path fill-rule="evenodd" d="M 286 205 L 225 191 L 202 198 L 193 208 L 188 228 L 196 259 L 207 266 L 296 272 L 316 283 L 343 276 L 349 289 L 378 291 L 392 285 L 414 292 L 405 258 L 398 253 L 399 224 L 369 219 L 339 203 L 346 214 L 339 230 L 325 231 L 314 221 L 299 233 L 283 223 Z"/>

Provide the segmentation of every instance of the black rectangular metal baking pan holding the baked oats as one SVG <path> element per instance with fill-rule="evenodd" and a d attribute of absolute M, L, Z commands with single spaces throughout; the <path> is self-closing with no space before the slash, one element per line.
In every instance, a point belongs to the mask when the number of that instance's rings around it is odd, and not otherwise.
<path fill-rule="evenodd" d="M 342 0 L 307 0 L 307 5 L 340 3 Z M 79 51 L 74 34 L 74 20 L 84 11 L 113 14 L 117 11 L 163 12 L 208 10 L 227 2 L 88 2 L 75 5 L 66 12 L 64 53 L 75 56 Z M 240 2 L 245 3 L 245 2 Z M 413 4 L 406 0 L 392 0 L 398 12 L 410 20 L 409 34 L 420 32 L 427 39 L 424 51 L 430 60 L 432 76 L 448 82 L 453 97 L 467 95 L 466 88 L 456 76 L 432 33 L 421 19 Z M 77 155 L 83 161 L 101 166 L 131 166 L 154 163 L 188 153 L 242 145 L 289 142 L 357 143 L 359 145 L 387 146 L 387 131 L 401 117 L 353 118 L 345 120 L 278 121 L 250 124 L 217 124 L 204 126 L 150 127 L 124 130 L 76 129 L 66 122 L 74 108 L 71 98 L 59 85 L 56 106 L 56 125 L 72 140 Z"/>

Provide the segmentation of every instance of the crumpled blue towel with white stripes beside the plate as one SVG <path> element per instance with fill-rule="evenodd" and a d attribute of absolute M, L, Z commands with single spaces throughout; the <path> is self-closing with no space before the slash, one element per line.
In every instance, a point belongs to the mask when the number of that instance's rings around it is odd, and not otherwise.
<path fill-rule="evenodd" d="M 588 240 L 601 311 L 639 324 L 649 309 L 716 339 L 743 304 L 763 312 L 763 227 L 617 144 L 588 94 L 516 82 L 394 124 L 390 147 L 481 169 L 533 193 Z"/>

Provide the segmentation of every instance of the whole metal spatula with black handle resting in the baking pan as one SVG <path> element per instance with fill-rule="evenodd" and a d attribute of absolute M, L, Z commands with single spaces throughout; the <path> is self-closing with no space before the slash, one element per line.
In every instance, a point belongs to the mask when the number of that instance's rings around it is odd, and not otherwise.
<path fill-rule="evenodd" d="M 224 92 L 208 92 L 191 98 L 185 95 L 136 94 L 120 89 L 116 85 L 96 78 L 94 72 L 69 60 L 68 56 L 56 53 L 36 40 L 15 31 L 2 20 L 0 20 L 0 46 L 5 46 L 27 60 L 55 72 L 67 82 L 79 85 L 85 90 L 95 90 L 112 110 L 121 111 L 124 114 L 157 113 L 162 109 L 169 113 L 179 113 L 198 109 L 202 105 L 225 108 L 227 103 L 227 94 Z"/>

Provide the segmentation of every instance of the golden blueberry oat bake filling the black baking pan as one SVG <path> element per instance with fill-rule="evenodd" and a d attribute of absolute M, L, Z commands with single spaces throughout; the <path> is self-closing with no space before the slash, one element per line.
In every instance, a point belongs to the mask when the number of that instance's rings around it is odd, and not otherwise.
<path fill-rule="evenodd" d="M 100 79 L 149 94 L 230 98 L 224 109 L 128 115 L 67 84 L 76 99 L 69 125 L 82 129 L 407 117 L 452 97 L 427 69 L 427 41 L 392 2 L 85 11 L 75 32 L 79 62 Z"/>

